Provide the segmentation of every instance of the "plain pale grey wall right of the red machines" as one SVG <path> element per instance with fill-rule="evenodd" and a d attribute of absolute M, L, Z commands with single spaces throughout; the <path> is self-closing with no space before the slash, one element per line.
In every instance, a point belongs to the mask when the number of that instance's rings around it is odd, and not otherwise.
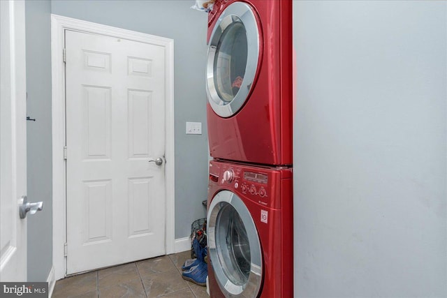
<path fill-rule="evenodd" d="M 446 297 L 445 1 L 294 1 L 295 297 Z"/>

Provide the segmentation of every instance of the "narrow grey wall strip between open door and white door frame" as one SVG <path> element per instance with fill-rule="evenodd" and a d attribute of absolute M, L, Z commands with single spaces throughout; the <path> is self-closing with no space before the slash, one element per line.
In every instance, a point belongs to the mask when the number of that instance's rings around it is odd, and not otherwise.
<path fill-rule="evenodd" d="M 47 281 L 52 267 L 51 3 L 25 2 L 27 43 L 28 198 L 43 211 L 28 218 L 28 281 Z"/>

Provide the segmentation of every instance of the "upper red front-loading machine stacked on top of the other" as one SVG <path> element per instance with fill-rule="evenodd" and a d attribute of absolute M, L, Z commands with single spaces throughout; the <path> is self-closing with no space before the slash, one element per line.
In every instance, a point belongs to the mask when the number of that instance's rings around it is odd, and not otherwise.
<path fill-rule="evenodd" d="M 292 1 L 217 0 L 208 15 L 213 158 L 292 164 Z"/>

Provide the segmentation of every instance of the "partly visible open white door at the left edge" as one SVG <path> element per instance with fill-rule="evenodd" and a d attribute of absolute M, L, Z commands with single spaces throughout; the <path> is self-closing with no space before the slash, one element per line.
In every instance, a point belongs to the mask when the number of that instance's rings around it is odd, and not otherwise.
<path fill-rule="evenodd" d="M 27 281 L 27 193 L 24 1 L 0 1 L 0 281 Z"/>

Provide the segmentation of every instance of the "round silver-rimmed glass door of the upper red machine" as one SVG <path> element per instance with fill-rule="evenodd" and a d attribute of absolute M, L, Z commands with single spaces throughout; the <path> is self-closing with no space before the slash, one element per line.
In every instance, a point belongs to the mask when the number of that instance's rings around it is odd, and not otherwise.
<path fill-rule="evenodd" d="M 214 112 L 231 117 L 247 100 L 258 68 L 258 22 L 247 4 L 230 4 L 211 34 L 207 59 L 207 96 Z"/>

